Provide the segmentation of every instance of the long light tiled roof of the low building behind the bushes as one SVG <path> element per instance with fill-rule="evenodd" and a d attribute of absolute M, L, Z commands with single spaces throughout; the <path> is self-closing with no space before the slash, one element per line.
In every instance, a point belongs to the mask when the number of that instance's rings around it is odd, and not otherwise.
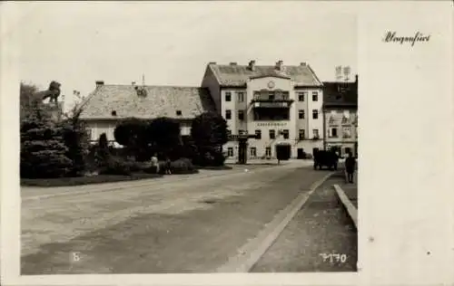
<path fill-rule="evenodd" d="M 144 89 L 146 95 L 138 95 L 133 85 L 101 85 L 81 104 L 81 119 L 153 119 L 162 116 L 192 119 L 202 112 L 215 110 L 209 91 L 202 88 L 145 86 Z M 177 110 L 182 114 L 177 115 Z"/>

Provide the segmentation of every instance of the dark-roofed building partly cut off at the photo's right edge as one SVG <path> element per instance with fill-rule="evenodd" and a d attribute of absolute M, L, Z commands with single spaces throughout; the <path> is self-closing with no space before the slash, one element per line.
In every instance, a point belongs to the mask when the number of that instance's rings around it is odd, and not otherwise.
<path fill-rule="evenodd" d="M 323 82 L 325 148 L 358 154 L 358 75 L 354 82 Z"/>

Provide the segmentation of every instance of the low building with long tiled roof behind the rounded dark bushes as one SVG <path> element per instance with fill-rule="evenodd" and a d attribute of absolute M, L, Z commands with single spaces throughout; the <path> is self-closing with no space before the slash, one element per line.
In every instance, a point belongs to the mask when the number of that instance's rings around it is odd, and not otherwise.
<path fill-rule="evenodd" d="M 190 135 L 192 119 L 214 111 L 209 92 L 199 87 L 104 84 L 96 81 L 94 91 L 82 102 L 81 119 L 92 141 L 105 133 L 114 143 L 114 129 L 121 119 L 178 119 L 182 135 Z"/>

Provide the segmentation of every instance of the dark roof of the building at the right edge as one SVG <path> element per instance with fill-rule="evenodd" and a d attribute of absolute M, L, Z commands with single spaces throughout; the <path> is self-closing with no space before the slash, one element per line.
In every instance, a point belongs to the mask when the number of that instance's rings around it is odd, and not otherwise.
<path fill-rule="evenodd" d="M 323 105 L 325 107 L 358 108 L 358 83 L 324 81 Z"/>

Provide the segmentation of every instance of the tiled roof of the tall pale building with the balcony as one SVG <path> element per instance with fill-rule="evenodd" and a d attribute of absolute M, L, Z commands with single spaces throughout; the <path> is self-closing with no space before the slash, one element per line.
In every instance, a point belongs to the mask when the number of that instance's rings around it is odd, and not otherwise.
<path fill-rule="evenodd" d="M 255 65 L 254 71 L 248 65 L 214 64 L 208 65 L 221 86 L 240 87 L 250 78 L 277 76 L 291 78 L 297 86 L 320 86 L 321 81 L 308 64 L 282 65 L 277 71 L 274 65 Z"/>

